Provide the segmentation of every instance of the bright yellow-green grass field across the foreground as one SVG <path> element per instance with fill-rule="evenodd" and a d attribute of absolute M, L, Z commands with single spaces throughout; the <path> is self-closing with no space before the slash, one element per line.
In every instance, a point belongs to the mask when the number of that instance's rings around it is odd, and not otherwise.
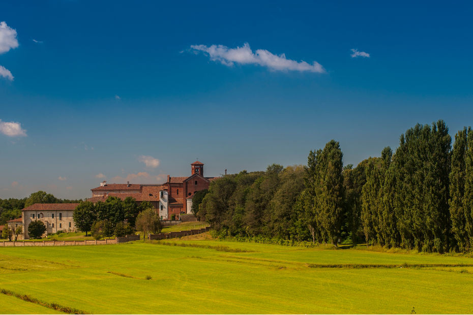
<path fill-rule="evenodd" d="M 473 310 L 472 258 L 215 240 L 166 243 L 0 247 L 0 289 L 88 313 Z M 328 264 L 349 268 L 320 268 Z M 357 264 L 365 268 L 353 268 Z M 2 313 L 54 312 L 2 294 L 0 305 Z"/>

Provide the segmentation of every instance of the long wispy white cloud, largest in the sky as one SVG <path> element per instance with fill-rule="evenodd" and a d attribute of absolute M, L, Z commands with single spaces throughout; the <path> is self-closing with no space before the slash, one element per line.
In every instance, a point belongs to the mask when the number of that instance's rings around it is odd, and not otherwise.
<path fill-rule="evenodd" d="M 323 67 L 314 61 L 308 64 L 306 61 L 295 61 L 287 59 L 285 54 L 275 55 L 265 49 L 257 49 L 253 52 L 248 43 L 243 47 L 228 48 L 223 45 L 191 45 L 191 49 L 198 53 L 208 54 L 213 61 L 219 61 L 222 65 L 233 66 L 233 64 L 241 65 L 259 65 L 276 71 L 308 71 L 324 73 Z"/>

